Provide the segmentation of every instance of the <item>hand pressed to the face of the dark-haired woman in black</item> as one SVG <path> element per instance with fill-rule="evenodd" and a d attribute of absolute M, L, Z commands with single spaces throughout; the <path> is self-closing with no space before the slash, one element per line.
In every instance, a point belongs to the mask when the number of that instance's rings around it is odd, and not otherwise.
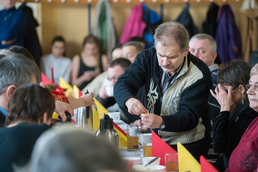
<path fill-rule="evenodd" d="M 210 90 L 210 93 L 214 98 L 217 99 L 217 101 L 220 104 L 220 111 L 230 111 L 231 101 L 232 101 L 232 86 L 228 88 L 228 92 L 226 92 L 222 87 L 221 84 L 218 84 L 218 86 L 215 88 L 215 93 Z"/>

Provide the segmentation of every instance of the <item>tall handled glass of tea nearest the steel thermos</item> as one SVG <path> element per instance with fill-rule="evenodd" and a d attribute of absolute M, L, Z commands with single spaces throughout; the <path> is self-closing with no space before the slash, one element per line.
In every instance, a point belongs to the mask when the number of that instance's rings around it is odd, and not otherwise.
<path fill-rule="evenodd" d="M 139 126 L 127 125 L 127 151 L 138 151 L 139 147 Z"/>

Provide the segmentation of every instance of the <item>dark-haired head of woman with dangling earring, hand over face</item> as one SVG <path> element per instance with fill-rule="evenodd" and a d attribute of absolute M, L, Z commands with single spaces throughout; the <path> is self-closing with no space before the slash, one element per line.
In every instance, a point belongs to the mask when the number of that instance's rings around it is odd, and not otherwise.
<path fill-rule="evenodd" d="M 225 91 L 232 87 L 232 104 L 242 103 L 248 100 L 246 84 L 249 82 L 251 66 L 243 60 L 233 60 L 217 75 L 217 83 L 220 83 Z"/>

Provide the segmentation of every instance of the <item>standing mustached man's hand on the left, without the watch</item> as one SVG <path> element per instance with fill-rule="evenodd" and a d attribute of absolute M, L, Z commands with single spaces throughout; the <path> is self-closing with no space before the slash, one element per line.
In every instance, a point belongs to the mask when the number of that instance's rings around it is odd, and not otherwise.
<path fill-rule="evenodd" d="M 142 113 L 147 112 L 144 105 L 136 98 L 128 98 L 124 104 L 128 108 L 130 114 L 141 115 Z"/>

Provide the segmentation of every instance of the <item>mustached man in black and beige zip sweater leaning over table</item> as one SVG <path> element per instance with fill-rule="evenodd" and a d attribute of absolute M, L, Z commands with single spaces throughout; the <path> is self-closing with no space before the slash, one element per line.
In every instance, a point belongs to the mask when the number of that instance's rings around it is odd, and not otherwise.
<path fill-rule="evenodd" d="M 177 150 L 180 142 L 199 160 L 207 154 L 210 142 L 212 78 L 207 65 L 190 54 L 188 43 L 182 24 L 159 25 L 155 47 L 137 55 L 114 85 L 114 97 L 129 113 L 141 115 L 142 123 L 172 148 Z M 134 98 L 144 84 L 147 109 Z M 147 110 L 150 114 L 145 114 Z"/>

